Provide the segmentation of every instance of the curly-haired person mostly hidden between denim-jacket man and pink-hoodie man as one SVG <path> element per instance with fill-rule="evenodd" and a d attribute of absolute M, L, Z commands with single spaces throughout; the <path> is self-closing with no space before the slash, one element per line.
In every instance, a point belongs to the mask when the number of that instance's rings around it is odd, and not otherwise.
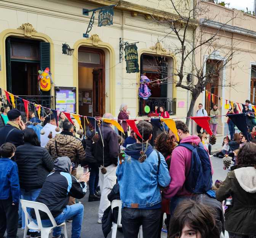
<path fill-rule="evenodd" d="M 175 142 L 174 136 L 170 136 L 169 134 L 166 134 L 163 132 L 159 136 L 157 136 L 157 138 L 155 139 L 155 148 L 165 157 L 166 164 L 168 165 L 168 170 L 170 170 L 171 153 L 173 152 L 173 149 L 175 147 L 176 147 L 176 142 Z M 166 213 L 166 227 L 168 231 L 169 221 L 170 221 L 169 203 L 170 203 L 169 199 L 164 199 L 162 197 L 162 216 L 160 219 L 158 238 L 161 237 L 164 213 Z"/>

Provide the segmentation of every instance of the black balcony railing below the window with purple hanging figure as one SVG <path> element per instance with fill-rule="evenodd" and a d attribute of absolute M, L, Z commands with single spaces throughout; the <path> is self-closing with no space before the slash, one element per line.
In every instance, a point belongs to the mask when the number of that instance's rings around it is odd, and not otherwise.
<path fill-rule="evenodd" d="M 146 105 L 150 107 L 150 112 L 155 112 L 155 106 L 164 106 L 170 115 L 176 115 L 176 98 L 149 98 L 147 100 L 139 98 L 139 116 L 147 115 L 144 112 Z"/>

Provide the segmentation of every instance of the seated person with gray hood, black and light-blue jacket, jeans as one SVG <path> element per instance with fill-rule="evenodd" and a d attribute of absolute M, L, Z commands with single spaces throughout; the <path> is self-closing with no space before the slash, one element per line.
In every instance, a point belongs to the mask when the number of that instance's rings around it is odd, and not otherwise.
<path fill-rule="evenodd" d="M 90 173 L 84 173 L 78 181 L 73 175 L 70 175 L 71 169 L 72 163 L 67 156 L 55 159 L 53 172 L 46 178 L 36 202 L 44 203 L 49 208 L 57 225 L 72 218 L 71 237 L 79 238 L 83 221 L 83 205 L 81 203 L 70 206 L 67 204 L 69 196 L 77 199 L 84 197 Z M 35 219 L 34 211 L 31 211 L 31 216 Z M 44 227 L 52 225 L 46 213 L 40 212 L 40 217 Z M 63 236 L 61 227 L 53 229 L 54 238 Z"/>

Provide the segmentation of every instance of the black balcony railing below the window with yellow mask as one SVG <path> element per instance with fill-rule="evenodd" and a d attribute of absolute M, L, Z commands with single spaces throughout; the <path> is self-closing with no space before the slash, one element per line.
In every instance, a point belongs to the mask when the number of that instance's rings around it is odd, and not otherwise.
<path fill-rule="evenodd" d="M 25 99 L 29 102 L 33 102 L 35 104 L 40 104 L 43 107 L 54 109 L 53 96 L 19 95 L 19 98 Z M 17 107 L 19 110 L 22 110 L 22 107 L 24 108 L 22 100 L 17 99 Z"/>

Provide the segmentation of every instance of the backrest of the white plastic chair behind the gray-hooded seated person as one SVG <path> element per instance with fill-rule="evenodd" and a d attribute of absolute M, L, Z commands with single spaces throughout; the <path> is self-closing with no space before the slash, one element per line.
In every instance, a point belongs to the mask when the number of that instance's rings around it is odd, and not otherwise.
<path fill-rule="evenodd" d="M 22 200 L 21 199 L 21 206 L 22 206 L 22 210 L 25 213 L 26 226 L 28 226 L 28 224 L 29 224 L 27 220 L 29 220 L 29 222 L 33 221 L 31 216 L 27 212 L 27 208 L 34 208 L 35 216 L 37 218 L 37 225 L 38 225 L 39 229 L 43 228 L 41 218 L 40 218 L 40 215 L 39 215 L 39 210 L 45 212 L 48 215 L 51 223 L 53 224 L 53 227 L 57 226 L 57 224 L 56 224 L 56 222 L 53 218 L 53 215 L 51 214 L 49 208 L 45 204 L 40 203 L 40 202 L 32 202 L 32 201 L 27 201 L 27 200 Z"/>

